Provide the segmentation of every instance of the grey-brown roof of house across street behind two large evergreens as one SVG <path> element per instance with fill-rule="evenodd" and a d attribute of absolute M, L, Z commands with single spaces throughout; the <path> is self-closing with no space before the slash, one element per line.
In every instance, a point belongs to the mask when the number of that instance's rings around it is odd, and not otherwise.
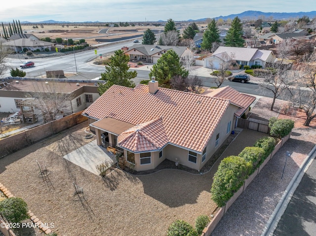
<path fill-rule="evenodd" d="M 125 52 L 125 54 L 132 54 L 134 49 L 143 53 L 146 56 L 152 56 L 156 53 L 163 54 L 164 51 L 168 51 L 170 49 L 173 49 L 179 55 L 179 57 L 181 57 L 182 54 L 187 49 L 187 47 L 134 44 L 133 46 L 128 48 L 128 50 Z"/>

